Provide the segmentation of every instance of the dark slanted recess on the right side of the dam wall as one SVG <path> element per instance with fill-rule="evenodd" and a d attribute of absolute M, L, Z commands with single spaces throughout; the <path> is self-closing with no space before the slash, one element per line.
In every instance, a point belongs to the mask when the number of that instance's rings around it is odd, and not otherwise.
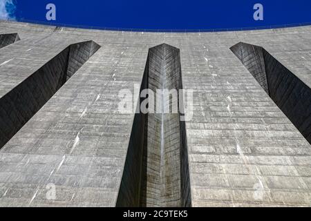
<path fill-rule="evenodd" d="M 311 144 L 311 89 L 260 46 L 240 42 L 230 49 Z"/>

